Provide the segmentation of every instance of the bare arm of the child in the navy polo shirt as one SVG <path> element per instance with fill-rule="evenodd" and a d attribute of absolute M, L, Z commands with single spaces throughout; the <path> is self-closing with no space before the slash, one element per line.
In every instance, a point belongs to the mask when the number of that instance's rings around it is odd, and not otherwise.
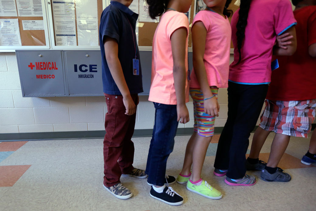
<path fill-rule="evenodd" d="M 130 90 L 126 84 L 121 63 L 119 61 L 119 44 L 116 39 L 106 37 L 104 42 L 106 62 L 109 66 L 115 84 L 118 86 L 126 109 L 126 115 L 133 115 L 136 112 L 136 105 L 131 97 Z"/>

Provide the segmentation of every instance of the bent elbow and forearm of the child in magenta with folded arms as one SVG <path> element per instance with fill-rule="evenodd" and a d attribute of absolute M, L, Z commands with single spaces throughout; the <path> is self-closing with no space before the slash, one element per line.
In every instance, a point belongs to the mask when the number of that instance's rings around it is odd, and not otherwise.
<path fill-rule="evenodd" d="M 273 47 L 273 55 L 276 56 L 292 56 L 297 47 L 296 42 L 296 30 L 295 27 L 291 27 L 288 30 L 286 30 L 283 34 L 289 34 L 290 37 L 292 37 L 290 40 L 288 40 L 289 45 L 286 45 L 284 47 L 279 47 L 279 45 L 276 45 Z"/>

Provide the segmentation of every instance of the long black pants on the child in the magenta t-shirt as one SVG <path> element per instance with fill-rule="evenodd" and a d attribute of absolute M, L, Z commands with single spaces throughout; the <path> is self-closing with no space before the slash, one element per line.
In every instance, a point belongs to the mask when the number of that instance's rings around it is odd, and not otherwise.
<path fill-rule="evenodd" d="M 228 82 L 228 118 L 218 142 L 214 167 L 239 179 L 246 174 L 249 136 L 258 121 L 268 85 Z"/>

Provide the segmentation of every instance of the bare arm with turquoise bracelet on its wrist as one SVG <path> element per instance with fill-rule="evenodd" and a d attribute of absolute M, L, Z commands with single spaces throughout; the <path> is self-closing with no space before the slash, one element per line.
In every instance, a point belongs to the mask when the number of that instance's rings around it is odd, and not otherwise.
<path fill-rule="evenodd" d="M 193 67 L 197 81 L 200 84 L 204 99 L 213 96 L 207 80 L 206 69 L 204 65 L 204 53 L 206 43 L 206 28 L 203 22 L 196 22 L 192 26 L 192 46 L 193 46 Z M 204 101 L 204 112 L 208 115 L 218 116 L 219 105 L 216 97 Z"/>

